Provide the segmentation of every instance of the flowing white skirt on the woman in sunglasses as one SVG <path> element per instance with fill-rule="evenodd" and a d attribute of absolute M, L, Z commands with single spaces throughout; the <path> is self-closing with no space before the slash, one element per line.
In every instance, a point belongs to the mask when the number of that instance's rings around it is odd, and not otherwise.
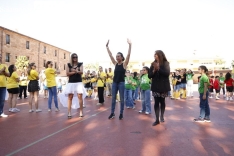
<path fill-rule="evenodd" d="M 64 86 L 65 89 L 63 89 L 62 93 L 58 94 L 58 99 L 60 101 L 60 103 L 62 104 L 63 107 L 67 107 L 68 104 L 68 94 L 74 94 L 73 95 L 73 99 L 72 99 L 72 109 L 78 109 L 80 108 L 79 105 L 79 100 L 77 97 L 77 93 L 79 94 L 83 94 L 82 98 L 83 98 L 83 105 L 84 104 L 84 98 L 86 97 L 87 93 L 85 91 L 85 88 L 82 84 L 82 82 L 78 82 L 78 83 L 68 83 L 66 86 Z"/>

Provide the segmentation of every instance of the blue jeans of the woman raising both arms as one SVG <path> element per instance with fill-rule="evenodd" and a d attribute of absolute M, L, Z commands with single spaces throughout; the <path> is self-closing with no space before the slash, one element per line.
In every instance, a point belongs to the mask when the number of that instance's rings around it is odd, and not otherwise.
<path fill-rule="evenodd" d="M 111 103 L 111 113 L 115 112 L 115 105 L 116 105 L 116 94 L 119 91 L 120 96 L 120 114 L 123 114 L 124 110 L 124 82 L 113 82 L 112 83 L 112 103 Z"/>

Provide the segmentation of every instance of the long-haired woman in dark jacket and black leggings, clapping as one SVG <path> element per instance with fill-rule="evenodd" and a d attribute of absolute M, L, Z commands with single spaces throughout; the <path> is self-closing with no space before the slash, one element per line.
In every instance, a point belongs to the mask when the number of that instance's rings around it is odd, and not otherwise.
<path fill-rule="evenodd" d="M 152 78 L 151 91 L 155 100 L 154 111 L 156 114 L 156 121 L 153 126 L 156 126 L 160 123 L 159 109 L 161 109 L 160 121 L 164 122 L 165 97 L 168 96 L 171 87 L 169 82 L 170 66 L 165 54 L 161 50 L 157 50 L 154 58 L 155 61 L 151 64 L 148 77 Z M 161 107 L 159 107 L 159 104 L 161 104 Z"/>

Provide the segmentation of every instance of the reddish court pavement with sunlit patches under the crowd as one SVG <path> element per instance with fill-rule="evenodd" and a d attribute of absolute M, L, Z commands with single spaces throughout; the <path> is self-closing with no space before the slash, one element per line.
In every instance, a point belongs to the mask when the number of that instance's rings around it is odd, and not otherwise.
<path fill-rule="evenodd" d="M 47 111 L 40 98 L 41 113 L 28 113 L 27 100 L 18 100 L 19 113 L 0 118 L 0 156 L 226 156 L 234 155 L 234 102 L 210 99 L 211 123 L 194 123 L 199 99 L 166 100 L 165 123 L 151 124 L 155 115 L 125 109 L 124 120 L 108 120 L 111 98 L 104 106 L 86 99 L 85 117 L 67 119 L 67 108 Z M 54 108 L 54 106 L 53 106 Z M 152 102 L 153 110 L 153 102 Z"/>

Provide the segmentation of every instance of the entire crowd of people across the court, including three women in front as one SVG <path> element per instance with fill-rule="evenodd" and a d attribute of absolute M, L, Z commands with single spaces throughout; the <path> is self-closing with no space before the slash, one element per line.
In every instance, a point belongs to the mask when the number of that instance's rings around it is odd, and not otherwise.
<path fill-rule="evenodd" d="M 116 58 L 113 57 L 109 40 L 106 44 L 107 52 L 112 63 L 115 65 L 114 71 L 111 68 L 103 69 L 99 66 L 98 71 L 89 70 L 85 73 L 83 63 L 78 62 L 78 55 L 73 53 L 70 62 L 66 67 L 68 82 L 62 82 L 59 79 L 56 82 L 56 75 L 59 70 L 53 68 L 53 62 L 47 61 L 46 69 L 39 74 L 36 70 L 36 64 L 30 63 L 27 72 L 22 72 L 21 76 L 17 74 L 15 65 L 7 67 L 0 65 L 0 114 L 1 117 L 7 117 L 3 113 L 6 91 L 8 93 L 9 112 L 19 112 L 17 108 L 17 98 L 28 98 L 29 92 L 29 112 L 34 112 L 32 103 L 35 103 L 35 112 L 42 110 L 38 105 L 38 93 L 44 92 L 44 98 L 48 98 L 48 111 L 52 111 L 52 100 L 54 100 L 55 111 L 59 111 L 58 101 L 68 108 L 68 118 L 72 118 L 71 108 L 79 108 L 79 116 L 82 118 L 83 108 L 85 107 L 84 98 L 94 98 L 98 100 L 97 105 L 104 105 L 105 98 L 111 97 L 111 113 L 108 119 L 115 117 L 116 102 L 120 103 L 119 119 L 124 118 L 124 107 L 135 109 L 136 100 L 141 100 L 141 109 L 139 113 L 151 114 L 151 97 L 154 99 L 154 112 L 156 115 L 156 126 L 164 120 L 165 98 L 180 99 L 193 97 L 194 73 L 191 70 L 181 69 L 175 72 L 170 71 L 170 64 L 161 50 L 155 51 L 154 61 L 150 67 L 144 66 L 138 72 L 130 72 L 127 69 L 131 56 L 132 43 L 127 40 L 129 45 L 128 54 L 125 57 L 118 52 Z M 0 60 L 2 60 L 0 54 Z M 233 100 L 234 80 L 231 74 L 223 76 L 210 75 L 205 66 L 199 67 L 198 91 L 200 93 L 200 116 L 195 118 L 195 122 L 210 122 L 209 98 L 220 99 L 220 90 L 226 100 Z M 215 92 L 215 93 L 214 93 Z"/>

